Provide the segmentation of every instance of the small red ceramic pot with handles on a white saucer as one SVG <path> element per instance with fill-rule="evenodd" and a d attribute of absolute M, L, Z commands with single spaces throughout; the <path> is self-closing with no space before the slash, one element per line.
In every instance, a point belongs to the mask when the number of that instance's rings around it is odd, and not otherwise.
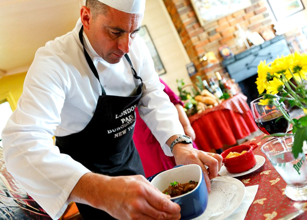
<path fill-rule="evenodd" d="M 255 142 L 252 142 L 248 145 L 238 145 L 223 151 L 221 156 L 223 157 L 223 163 L 226 170 L 229 173 L 241 173 L 251 169 L 256 165 L 256 159 L 253 150 L 255 150 L 257 147 L 258 145 Z M 241 153 L 242 151 L 247 152 L 240 156 L 226 158 L 230 152 Z"/>

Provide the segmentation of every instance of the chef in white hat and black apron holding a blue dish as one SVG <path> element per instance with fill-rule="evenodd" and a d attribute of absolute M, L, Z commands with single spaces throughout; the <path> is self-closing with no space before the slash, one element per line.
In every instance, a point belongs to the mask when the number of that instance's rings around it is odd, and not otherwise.
<path fill-rule="evenodd" d="M 70 202 L 85 220 L 180 219 L 180 206 L 143 177 L 132 141 L 136 107 L 166 155 L 202 167 L 209 191 L 221 167 L 220 155 L 193 148 L 163 92 L 137 34 L 144 8 L 145 0 L 87 0 L 75 28 L 35 54 L 3 152 L 8 171 L 53 219 Z"/>

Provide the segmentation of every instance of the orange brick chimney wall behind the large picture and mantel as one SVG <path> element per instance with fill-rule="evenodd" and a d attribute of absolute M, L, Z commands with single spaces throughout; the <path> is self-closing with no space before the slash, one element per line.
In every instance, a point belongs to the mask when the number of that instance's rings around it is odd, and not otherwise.
<path fill-rule="evenodd" d="M 196 75 L 203 79 L 214 77 L 215 71 L 223 72 L 223 60 L 218 48 L 226 44 L 234 54 L 246 50 L 246 46 L 237 43 L 237 24 L 243 29 L 258 32 L 264 27 L 272 27 L 266 0 L 251 0 L 252 5 L 201 27 L 190 0 L 163 0 L 180 35 L 182 43 L 198 70 Z M 200 58 L 208 51 L 213 51 L 219 63 L 210 68 Z M 195 76 L 192 81 L 195 81 Z"/>

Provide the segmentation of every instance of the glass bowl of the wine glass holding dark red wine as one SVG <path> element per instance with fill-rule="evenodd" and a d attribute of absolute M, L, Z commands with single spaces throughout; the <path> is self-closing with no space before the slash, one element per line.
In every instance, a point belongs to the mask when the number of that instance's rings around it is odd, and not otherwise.
<path fill-rule="evenodd" d="M 289 129 L 289 122 L 286 120 L 280 110 L 275 105 L 260 105 L 263 97 L 255 99 L 251 102 L 252 115 L 258 128 L 267 135 L 274 133 L 286 133 Z M 287 112 L 287 107 L 283 102 L 280 107 Z"/>

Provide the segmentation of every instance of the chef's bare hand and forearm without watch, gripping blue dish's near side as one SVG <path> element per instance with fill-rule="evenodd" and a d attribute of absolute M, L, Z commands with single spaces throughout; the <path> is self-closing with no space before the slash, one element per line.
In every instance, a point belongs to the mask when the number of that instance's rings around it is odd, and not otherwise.
<path fill-rule="evenodd" d="M 108 177 L 87 173 L 70 200 L 91 205 L 120 220 L 180 219 L 180 206 L 153 187 L 143 176 Z"/>

